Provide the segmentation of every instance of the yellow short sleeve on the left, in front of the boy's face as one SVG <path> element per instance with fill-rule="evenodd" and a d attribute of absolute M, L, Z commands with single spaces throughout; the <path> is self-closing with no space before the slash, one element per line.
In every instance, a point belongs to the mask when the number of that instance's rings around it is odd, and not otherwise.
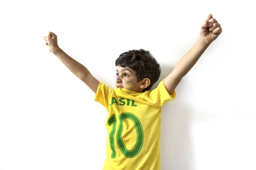
<path fill-rule="evenodd" d="M 100 82 L 94 97 L 94 101 L 99 102 L 108 110 L 111 92 L 111 88 Z"/>

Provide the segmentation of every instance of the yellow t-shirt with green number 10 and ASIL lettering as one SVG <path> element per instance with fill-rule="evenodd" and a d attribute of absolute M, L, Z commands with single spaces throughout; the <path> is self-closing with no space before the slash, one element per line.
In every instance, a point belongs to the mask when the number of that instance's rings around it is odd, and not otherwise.
<path fill-rule="evenodd" d="M 111 90 L 100 82 L 95 101 L 108 111 L 103 170 L 160 170 L 161 106 L 175 99 L 163 81 L 152 91 Z"/>

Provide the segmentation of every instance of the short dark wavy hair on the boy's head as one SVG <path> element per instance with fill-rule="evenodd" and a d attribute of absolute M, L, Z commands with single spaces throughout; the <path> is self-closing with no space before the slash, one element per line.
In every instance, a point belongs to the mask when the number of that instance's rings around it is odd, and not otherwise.
<path fill-rule="evenodd" d="M 150 79 L 150 85 L 143 89 L 148 91 L 160 77 L 161 68 L 157 60 L 149 51 L 143 49 L 126 51 L 116 59 L 116 66 L 129 67 L 136 71 L 137 82 L 145 78 Z"/>

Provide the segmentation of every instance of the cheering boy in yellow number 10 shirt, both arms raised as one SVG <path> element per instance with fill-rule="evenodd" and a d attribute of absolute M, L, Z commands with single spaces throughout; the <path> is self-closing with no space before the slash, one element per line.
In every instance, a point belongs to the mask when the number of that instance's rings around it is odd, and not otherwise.
<path fill-rule="evenodd" d="M 175 88 L 222 32 L 209 14 L 200 37 L 157 88 L 148 91 L 160 77 L 160 65 L 149 51 L 132 50 L 116 59 L 116 88 L 111 90 L 94 78 L 84 65 L 58 47 L 57 36 L 44 37 L 49 50 L 96 95 L 108 111 L 108 140 L 104 170 L 160 170 L 161 106 L 175 99 Z"/>

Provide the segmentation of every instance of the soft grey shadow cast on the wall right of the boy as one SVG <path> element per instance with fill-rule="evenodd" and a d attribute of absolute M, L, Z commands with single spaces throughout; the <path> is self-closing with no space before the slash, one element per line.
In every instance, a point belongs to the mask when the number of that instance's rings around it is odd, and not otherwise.
<path fill-rule="evenodd" d="M 151 88 L 157 87 L 166 78 L 173 67 L 161 65 L 159 80 Z M 186 88 L 185 77 L 181 80 L 176 91 L 176 99 L 167 102 L 162 107 L 161 122 L 161 169 L 162 170 L 195 170 L 192 140 L 189 124 L 191 112 L 186 102 L 179 97 Z M 183 95 L 186 96 L 186 95 Z"/>

